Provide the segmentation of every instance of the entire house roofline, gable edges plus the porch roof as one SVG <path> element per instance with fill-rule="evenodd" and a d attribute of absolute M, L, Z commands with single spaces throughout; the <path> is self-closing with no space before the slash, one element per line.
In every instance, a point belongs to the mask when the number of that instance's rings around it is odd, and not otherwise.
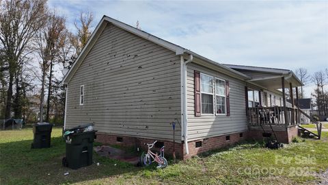
<path fill-rule="evenodd" d="M 96 43 L 96 40 L 98 40 L 100 34 L 102 33 L 103 29 L 105 29 L 105 27 L 109 23 L 113 24 L 117 27 L 120 27 L 121 29 L 124 29 L 127 32 L 131 32 L 132 34 L 140 36 L 141 38 L 150 40 L 151 42 L 154 42 L 157 45 L 161 45 L 162 47 L 165 47 L 166 49 L 174 51 L 176 53 L 176 55 L 183 55 L 186 57 L 187 57 L 187 55 L 193 55 L 193 62 L 203 65 L 203 66 L 206 66 L 210 69 L 214 69 L 221 73 L 225 73 L 226 75 L 236 77 L 238 79 L 243 79 L 243 80 L 251 80 L 252 79 L 252 77 L 250 77 L 249 75 L 247 75 L 245 73 L 242 73 L 241 71 L 238 71 L 238 69 L 264 71 L 264 72 L 277 73 L 277 74 L 282 74 L 282 75 L 292 73 L 292 71 L 287 70 L 287 69 L 269 69 L 269 68 L 256 67 L 256 66 L 238 66 L 238 65 L 230 65 L 230 64 L 219 64 L 218 62 L 215 62 L 213 60 L 205 58 L 204 56 L 201 56 L 189 49 L 185 49 L 184 47 L 180 47 L 179 45 L 176 45 L 172 42 L 168 42 L 167 40 L 163 40 L 159 37 L 153 36 L 152 34 L 148 34 L 147 32 L 144 32 L 140 29 L 132 27 L 131 25 L 127 25 L 126 23 L 122 23 L 118 20 L 115 20 L 114 18 L 110 18 L 109 16 L 103 16 L 101 21 L 98 23 L 96 29 L 90 36 L 90 39 L 87 41 L 87 44 L 85 45 L 85 47 L 83 47 L 81 53 L 77 57 L 77 60 L 74 62 L 74 64 L 72 65 L 72 67 L 70 68 L 68 73 L 65 75 L 61 84 L 68 84 L 68 82 L 70 82 L 70 79 L 72 78 L 74 73 L 77 71 L 77 69 L 79 69 L 79 66 L 83 62 L 84 58 L 87 56 L 87 53 L 89 53 L 89 51 L 92 49 L 93 45 Z M 292 73 L 292 75 L 294 77 L 296 77 L 294 75 L 294 73 Z"/>

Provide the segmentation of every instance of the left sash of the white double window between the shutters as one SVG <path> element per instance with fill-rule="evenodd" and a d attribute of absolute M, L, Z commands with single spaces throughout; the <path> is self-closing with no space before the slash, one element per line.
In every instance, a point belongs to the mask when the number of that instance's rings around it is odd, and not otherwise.
<path fill-rule="evenodd" d="M 200 93 L 202 99 L 202 114 L 214 114 L 213 112 L 213 77 L 200 75 Z"/>

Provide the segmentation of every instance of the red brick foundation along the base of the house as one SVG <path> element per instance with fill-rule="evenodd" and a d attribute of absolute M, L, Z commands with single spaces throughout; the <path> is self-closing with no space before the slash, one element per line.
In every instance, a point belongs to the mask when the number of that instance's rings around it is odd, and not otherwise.
<path fill-rule="evenodd" d="M 264 127 L 264 130 L 266 132 L 271 132 L 271 129 L 269 127 Z M 297 136 L 298 130 L 296 126 L 292 127 L 275 127 L 275 134 L 277 136 L 277 140 L 280 143 L 290 143 L 292 141 L 292 138 Z M 188 142 L 188 148 L 189 148 L 189 154 L 187 155 L 185 153 L 185 145 L 183 143 L 175 143 L 175 149 L 176 149 L 176 156 L 180 159 L 187 159 L 191 158 L 192 156 L 195 156 L 197 154 L 203 153 L 205 151 L 210 151 L 212 149 L 217 149 L 221 147 L 226 147 L 228 145 L 233 145 L 234 143 L 237 143 L 238 141 L 245 140 L 245 139 L 256 139 L 256 140 L 262 140 L 263 130 L 254 129 L 250 131 L 245 132 L 238 132 L 233 134 L 226 134 L 223 136 L 215 136 L 210 138 L 204 138 L 201 140 L 192 140 Z M 242 134 L 242 136 L 241 136 Z M 226 136 L 230 136 L 230 139 L 227 140 Z M 122 138 L 122 142 L 118 142 L 117 137 Z M 143 149 L 146 151 L 147 146 L 143 145 L 143 143 L 153 143 L 154 139 L 149 138 L 136 138 L 136 137 L 130 137 L 130 136 L 118 136 L 118 135 L 110 135 L 106 133 L 97 133 L 96 141 L 99 143 L 104 143 L 108 145 L 121 145 L 124 147 L 139 147 L 140 149 Z M 158 140 L 159 142 L 163 142 L 165 146 L 165 153 L 166 155 L 172 155 L 173 153 L 173 142 L 167 141 L 167 140 Z M 196 143 L 201 142 L 200 147 L 196 147 Z M 199 143 L 198 143 L 199 144 Z M 153 148 L 154 151 L 159 151 L 159 148 Z"/>

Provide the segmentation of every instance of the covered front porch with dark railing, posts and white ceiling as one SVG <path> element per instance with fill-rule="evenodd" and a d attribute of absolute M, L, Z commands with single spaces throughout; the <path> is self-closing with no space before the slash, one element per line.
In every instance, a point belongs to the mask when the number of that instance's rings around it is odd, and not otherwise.
<path fill-rule="evenodd" d="M 249 127 L 259 127 L 271 125 L 273 127 L 290 127 L 301 123 L 302 114 L 299 111 L 298 87 L 303 86 L 293 73 L 288 75 L 278 75 L 251 79 L 249 82 L 260 84 L 267 90 L 281 90 L 281 103 L 279 106 L 268 106 L 260 103 L 256 107 L 247 107 L 247 122 Z M 286 102 L 286 88 L 289 90 L 290 103 Z M 296 97 L 295 97 L 296 96 Z M 287 106 L 288 104 L 288 106 Z"/>

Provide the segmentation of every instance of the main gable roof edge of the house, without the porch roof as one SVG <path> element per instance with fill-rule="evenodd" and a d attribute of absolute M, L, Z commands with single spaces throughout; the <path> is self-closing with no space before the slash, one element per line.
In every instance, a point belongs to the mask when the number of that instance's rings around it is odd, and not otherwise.
<path fill-rule="evenodd" d="M 121 29 L 124 29 L 127 32 L 131 32 L 132 34 L 140 36 L 141 38 L 150 40 L 151 42 L 154 42 L 157 45 L 161 45 L 162 47 L 165 47 L 166 49 L 174 51 L 176 53 L 176 55 L 184 55 L 184 54 L 193 55 L 193 58 L 195 58 L 195 60 L 199 60 L 199 61 L 202 60 L 202 61 L 207 62 L 208 64 L 219 67 L 219 69 L 221 69 L 222 73 L 226 73 L 228 75 L 232 75 L 233 77 L 237 77 L 237 78 L 241 78 L 241 79 L 251 79 L 249 76 L 247 76 L 243 73 L 240 73 L 238 71 L 235 71 L 234 69 L 229 68 L 228 66 L 224 66 L 223 64 L 219 64 L 218 62 L 215 62 L 213 60 L 205 58 L 204 56 L 200 56 L 199 54 L 197 54 L 193 51 L 190 51 L 189 49 L 185 49 L 172 42 L 168 42 L 167 40 L 163 40 L 159 37 L 153 36 L 152 34 L 148 34 L 147 32 L 144 32 L 140 29 L 132 27 L 131 25 L 127 25 L 126 23 L 122 23 L 118 20 L 115 20 L 114 18 L 110 18 L 109 16 L 103 16 L 101 21 L 98 23 L 96 29 L 90 36 L 90 39 L 87 41 L 87 44 L 83 47 L 81 53 L 77 57 L 77 60 L 74 62 L 74 64 L 72 65 L 72 67 L 70 68 L 68 73 L 66 73 L 61 84 L 68 84 L 68 82 L 70 82 L 70 79 L 72 78 L 74 73 L 77 71 L 77 69 L 81 65 L 81 62 L 87 56 L 87 53 L 89 53 L 89 51 L 92 49 L 96 40 L 98 40 L 98 37 L 102 33 L 103 29 L 105 29 L 105 27 L 107 26 L 108 23 L 111 23 L 117 27 L 120 27 Z"/>

